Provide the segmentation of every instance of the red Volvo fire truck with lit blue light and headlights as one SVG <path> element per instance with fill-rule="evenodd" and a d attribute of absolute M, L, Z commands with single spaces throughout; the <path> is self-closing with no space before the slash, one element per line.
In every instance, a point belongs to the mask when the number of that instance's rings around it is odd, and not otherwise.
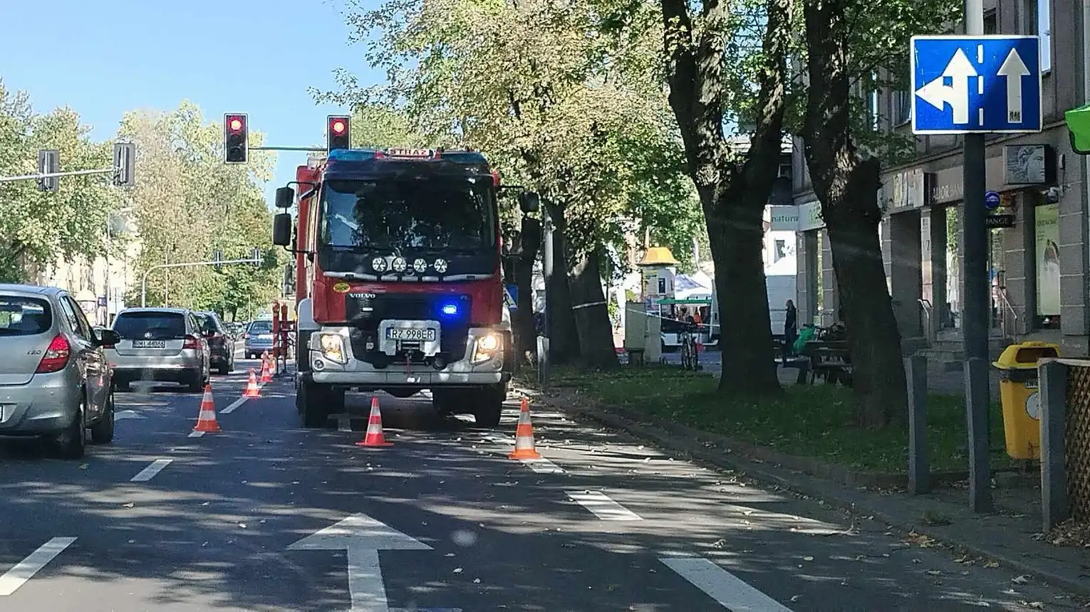
<path fill-rule="evenodd" d="M 303 424 L 343 412 L 347 390 L 427 389 L 439 413 L 495 427 L 514 366 L 499 174 L 472 150 L 348 148 L 348 122 L 330 118 L 328 152 L 276 193 L 274 243 L 296 255 Z"/>

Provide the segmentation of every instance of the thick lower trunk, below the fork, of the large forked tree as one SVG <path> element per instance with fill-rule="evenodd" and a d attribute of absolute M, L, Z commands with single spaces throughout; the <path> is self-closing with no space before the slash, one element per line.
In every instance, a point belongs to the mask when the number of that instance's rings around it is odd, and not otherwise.
<path fill-rule="evenodd" d="M 726 197 L 759 197 L 732 192 L 728 189 Z M 754 207 L 736 200 L 731 206 L 718 206 L 714 216 L 707 217 L 712 221 L 707 233 L 719 302 L 723 375 L 718 390 L 724 395 L 779 391 L 761 257 L 763 210 L 763 201 Z"/>

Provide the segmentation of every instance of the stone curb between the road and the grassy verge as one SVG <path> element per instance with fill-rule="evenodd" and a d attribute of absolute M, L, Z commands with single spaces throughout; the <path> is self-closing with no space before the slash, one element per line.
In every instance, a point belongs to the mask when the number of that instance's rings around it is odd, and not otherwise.
<path fill-rule="evenodd" d="M 1090 580 L 1085 582 L 1061 576 L 1047 570 L 1041 570 L 1039 566 L 1029 564 L 1022 559 L 1013 555 L 1013 553 L 1003 551 L 998 548 L 981 547 L 971 542 L 959 540 L 956 537 L 950 537 L 948 533 L 943 530 L 933 529 L 927 525 L 918 525 L 916 523 L 905 521 L 901 517 L 893 516 L 880 507 L 868 504 L 867 500 L 853 501 L 848 499 L 847 495 L 843 494 L 843 491 L 834 489 L 835 487 L 838 487 L 835 482 L 832 484 L 833 487 L 823 487 L 818 484 L 807 482 L 802 477 L 791 477 L 780 473 L 787 468 L 770 469 L 763 467 L 755 461 L 735 454 L 729 448 L 727 448 L 729 442 L 723 440 L 722 437 L 719 437 L 719 444 L 723 449 L 717 452 L 711 452 L 704 450 L 704 448 L 716 448 L 716 444 L 711 442 L 711 439 L 716 438 L 715 434 L 699 431 L 685 426 L 678 426 L 676 424 L 661 421 L 655 417 L 643 414 L 635 415 L 632 414 L 631 411 L 621 407 L 579 407 L 571 405 L 565 397 L 546 395 L 544 393 L 538 395 L 538 400 L 542 403 L 550 404 L 554 407 L 565 409 L 580 417 L 597 421 L 607 427 L 620 429 L 637 438 L 651 440 L 664 449 L 680 452 L 682 455 L 710 463 L 717 467 L 744 472 L 747 476 L 750 476 L 758 481 L 773 484 L 788 491 L 822 500 L 834 507 L 847 511 L 853 515 L 870 515 L 904 531 L 915 531 L 917 534 L 928 536 L 929 538 L 933 538 L 940 542 L 955 544 L 970 554 L 993 559 L 1003 563 L 1007 567 L 1015 570 L 1016 572 L 1029 574 L 1030 576 L 1050 585 L 1058 586 L 1071 593 L 1078 593 L 1090 598 Z M 644 425 L 644 423 L 654 424 L 654 427 L 649 427 Z M 685 432 L 683 436 L 679 434 L 678 430 L 685 429 L 690 429 L 693 433 L 699 432 L 699 436 L 694 436 L 690 432 Z M 666 431 L 666 433 L 664 433 L 664 431 Z M 693 442 L 695 442 L 695 444 Z"/>

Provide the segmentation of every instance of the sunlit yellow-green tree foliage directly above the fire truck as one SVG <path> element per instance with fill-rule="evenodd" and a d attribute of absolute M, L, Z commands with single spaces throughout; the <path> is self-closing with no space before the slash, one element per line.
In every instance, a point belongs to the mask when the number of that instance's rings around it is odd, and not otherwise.
<path fill-rule="evenodd" d="M 617 0 L 387 0 L 349 15 L 387 83 L 340 72 L 318 97 L 370 118 L 356 144 L 483 150 L 506 183 L 564 207 L 576 250 L 620 245 L 644 217 L 688 232 L 678 211 L 698 207 L 678 180 L 657 15 Z"/>

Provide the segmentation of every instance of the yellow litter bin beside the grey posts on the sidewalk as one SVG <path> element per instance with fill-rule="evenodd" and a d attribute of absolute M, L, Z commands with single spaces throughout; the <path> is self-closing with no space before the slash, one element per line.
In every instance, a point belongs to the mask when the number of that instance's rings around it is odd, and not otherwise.
<path fill-rule="evenodd" d="M 1013 458 L 1041 458 L 1041 394 L 1037 364 L 1058 356 L 1059 345 L 1030 341 L 1007 346 L 992 364 L 1000 370 L 1003 431 L 1007 454 Z"/>

